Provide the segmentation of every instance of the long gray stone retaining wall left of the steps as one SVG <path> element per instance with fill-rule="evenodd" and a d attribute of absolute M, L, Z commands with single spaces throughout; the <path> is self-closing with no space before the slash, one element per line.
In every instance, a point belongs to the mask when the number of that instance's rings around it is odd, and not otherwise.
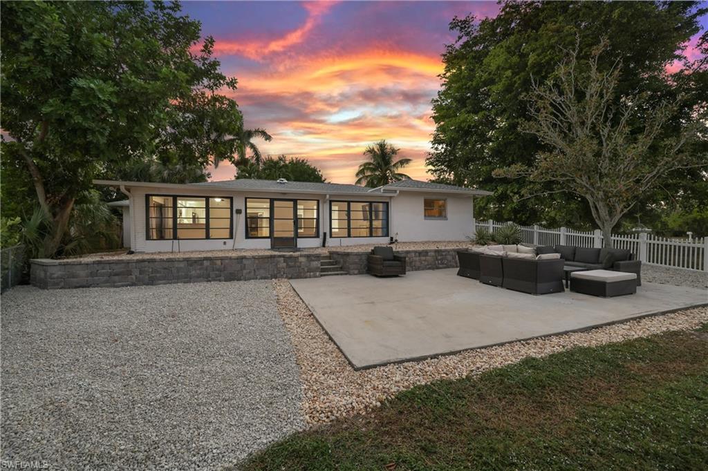
<path fill-rule="evenodd" d="M 30 282 L 41 289 L 137 286 L 248 279 L 319 277 L 319 253 L 130 260 L 30 260 Z"/>

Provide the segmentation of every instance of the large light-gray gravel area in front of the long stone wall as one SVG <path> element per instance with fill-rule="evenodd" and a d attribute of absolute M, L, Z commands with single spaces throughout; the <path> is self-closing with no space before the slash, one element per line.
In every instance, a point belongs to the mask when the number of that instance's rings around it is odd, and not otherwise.
<path fill-rule="evenodd" d="M 302 429 L 270 281 L 0 299 L 2 460 L 218 469 Z"/>

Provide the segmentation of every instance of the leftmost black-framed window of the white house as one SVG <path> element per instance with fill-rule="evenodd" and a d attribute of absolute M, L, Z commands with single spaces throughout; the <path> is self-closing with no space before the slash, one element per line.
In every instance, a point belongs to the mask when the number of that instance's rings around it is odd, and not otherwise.
<path fill-rule="evenodd" d="M 147 239 L 232 238 L 230 197 L 147 196 Z"/>

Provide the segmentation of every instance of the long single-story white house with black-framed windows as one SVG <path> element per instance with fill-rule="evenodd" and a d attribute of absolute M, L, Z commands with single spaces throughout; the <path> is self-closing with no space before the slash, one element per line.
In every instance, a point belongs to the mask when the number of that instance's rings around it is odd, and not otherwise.
<path fill-rule="evenodd" d="M 94 183 L 128 197 L 124 245 L 136 252 L 464 240 L 474 197 L 491 194 L 418 180 L 379 188 L 282 179 Z"/>

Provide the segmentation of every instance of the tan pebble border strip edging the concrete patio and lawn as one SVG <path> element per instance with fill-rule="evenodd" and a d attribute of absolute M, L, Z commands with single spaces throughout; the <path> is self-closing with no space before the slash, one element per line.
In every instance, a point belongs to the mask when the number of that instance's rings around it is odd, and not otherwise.
<path fill-rule="evenodd" d="M 274 280 L 278 311 L 290 332 L 303 385 L 302 411 L 309 426 L 365 413 L 396 393 L 435 380 L 464 378 L 527 357 L 575 347 L 623 342 L 671 330 L 692 330 L 708 322 L 708 308 L 657 315 L 585 332 L 531 339 L 435 359 L 354 371 L 316 322 L 290 282 Z"/>

